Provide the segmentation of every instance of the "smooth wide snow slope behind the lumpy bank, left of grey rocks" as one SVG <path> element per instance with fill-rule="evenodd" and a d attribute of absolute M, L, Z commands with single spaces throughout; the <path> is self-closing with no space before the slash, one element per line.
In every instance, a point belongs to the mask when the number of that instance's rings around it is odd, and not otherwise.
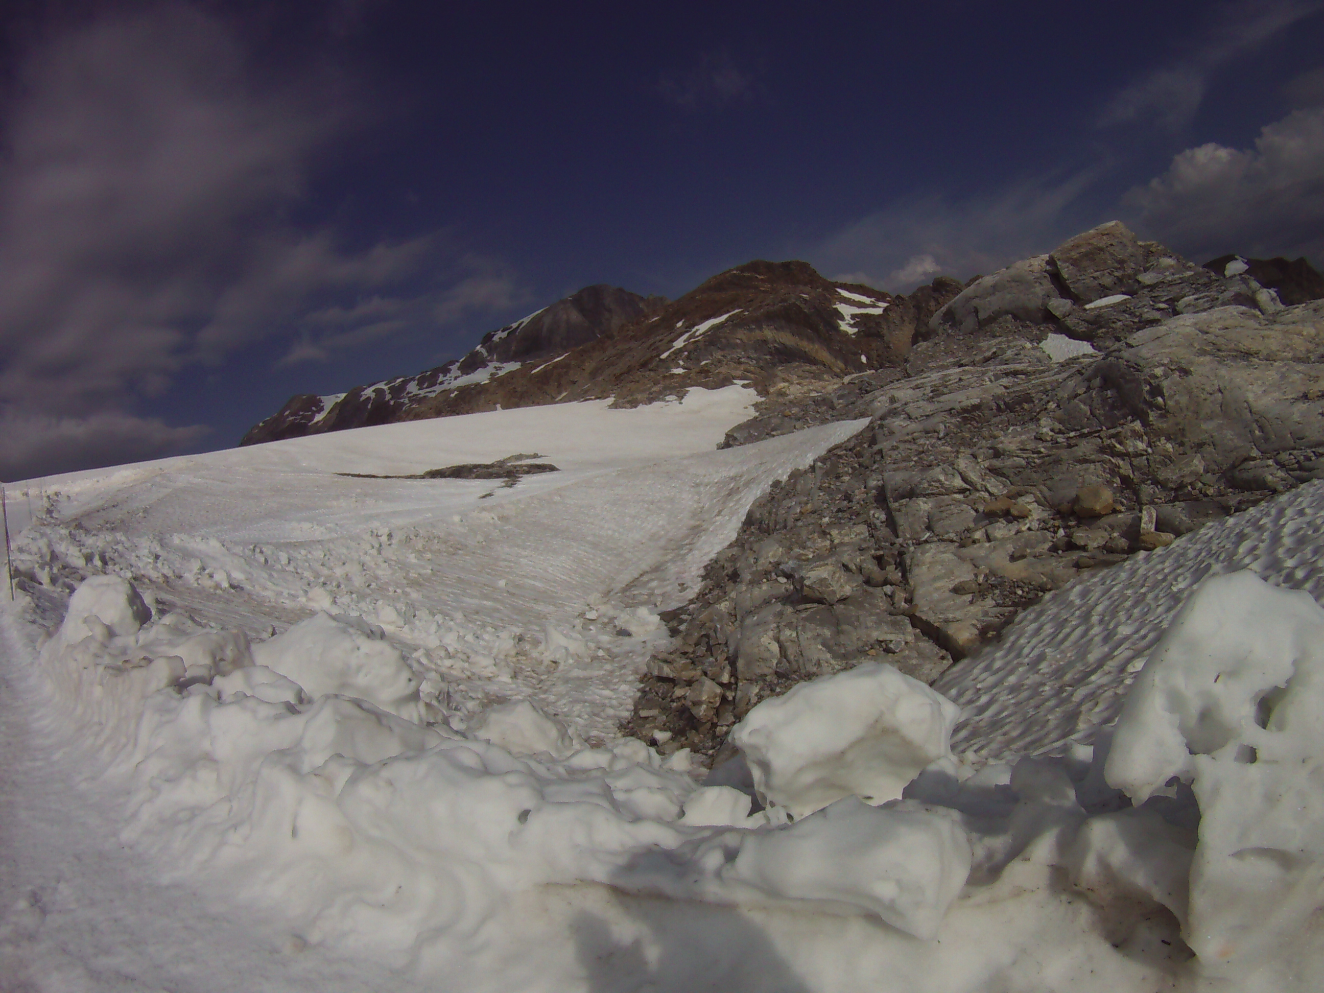
<path fill-rule="evenodd" d="M 20 494 L 58 491 L 69 523 L 42 530 L 30 564 L 48 568 L 48 547 L 114 563 L 148 601 L 250 637 L 351 613 L 404 646 L 448 710 L 522 696 L 609 735 L 633 687 L 604 671 L 647 655 L 657 612 L 688 598 L 773 478 L 859 428 L 715 451 L 752 399 L 730 387 L 633 410 L 527 408 L 36 481 Z M 514 487 L 338 475 L 535 453 L 560 471 Z"/>

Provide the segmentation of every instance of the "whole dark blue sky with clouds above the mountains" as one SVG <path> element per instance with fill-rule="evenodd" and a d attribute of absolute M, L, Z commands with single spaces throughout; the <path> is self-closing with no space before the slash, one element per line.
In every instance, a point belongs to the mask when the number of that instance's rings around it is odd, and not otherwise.
<path fill-rule="evenodd" d="M 224 448 L 594 282 L 906 291 L 1113 217 L 1324 256 L 1315 0 L 8 9 L 5 479 Z"/>

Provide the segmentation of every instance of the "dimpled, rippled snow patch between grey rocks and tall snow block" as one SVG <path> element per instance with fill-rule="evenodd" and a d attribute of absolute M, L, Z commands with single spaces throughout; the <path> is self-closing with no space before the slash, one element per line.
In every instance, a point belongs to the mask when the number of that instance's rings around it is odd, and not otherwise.
<path fill-rule="evenodd" d="M 1324 483 L 1308 483 L 1050 593 L 933 685 L 965 712 L 953 748 L 1005 759 L 1092 743 L 1201 580 L 1250 569 L 1324 601 L 1320 549 Z"/>

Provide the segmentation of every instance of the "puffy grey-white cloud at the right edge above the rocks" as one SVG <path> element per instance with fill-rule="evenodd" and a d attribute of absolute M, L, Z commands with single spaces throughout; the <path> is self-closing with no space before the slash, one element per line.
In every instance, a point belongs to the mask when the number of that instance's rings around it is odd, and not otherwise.
<path fill-rule="evenodd" d="M 1133 226 L 1198 261 L 1324 257 L 1324 107 L 1296 110 L 1251 150 L 1202 144 L 1123 199 Z"/>

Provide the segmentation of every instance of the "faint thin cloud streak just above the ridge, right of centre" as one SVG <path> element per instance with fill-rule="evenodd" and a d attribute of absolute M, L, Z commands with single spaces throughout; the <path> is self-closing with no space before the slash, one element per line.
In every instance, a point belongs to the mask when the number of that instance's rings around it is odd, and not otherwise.
<path fill-rule="evenodd" d="M 809 260 L 835 278 L 896 293 L 939 273 L 989 273 L 1096 222 L 1079 200 L 1104 171 L 1022 180 L 967 200 L 906 197 L 824 240 Z"/>

